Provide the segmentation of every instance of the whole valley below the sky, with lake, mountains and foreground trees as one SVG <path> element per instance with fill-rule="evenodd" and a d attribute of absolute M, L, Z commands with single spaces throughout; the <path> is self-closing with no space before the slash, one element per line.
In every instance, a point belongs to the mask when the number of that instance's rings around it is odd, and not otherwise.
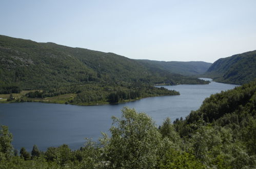
<path fill-rule="evenodd" d="M 213 64 L 135 60 L 0 36 L 0 56 L 1 168 L 256 164 L 254 51 Z M 129 153 L 150 160 L 123 163 Z"/>

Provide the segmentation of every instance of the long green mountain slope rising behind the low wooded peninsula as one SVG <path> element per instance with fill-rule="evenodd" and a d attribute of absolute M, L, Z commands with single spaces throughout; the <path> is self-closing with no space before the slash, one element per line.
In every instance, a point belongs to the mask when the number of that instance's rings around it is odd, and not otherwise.
<path fill-rule="evenodd" d="M 114 53 L 8 36 L 0 36 L 0 57 L 0 83 L 16 83 L 23 89 L 120 81 L 175 85 L 191 79 Z"/>

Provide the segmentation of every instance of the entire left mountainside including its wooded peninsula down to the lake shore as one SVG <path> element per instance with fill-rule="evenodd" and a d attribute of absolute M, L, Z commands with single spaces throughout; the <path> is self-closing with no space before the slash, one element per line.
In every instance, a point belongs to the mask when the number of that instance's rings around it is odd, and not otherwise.
<path fill-rule="evenodd" d="M 9 100 L 75 104 L 120 102 L 178 92 L 157 83 L 206 81 L 152 68 L 114 53 L 0 36 L 0 94 Z M 31 91 L 32 90 L 32 91 Z M 56 97 L 64 95 L 62 97 Z M 13 97 L 14 96 L 14 97 Z M 7 96 L 4 96 L 7 97 Z M 6 98 L 7 99 L 7 98 Z"/>

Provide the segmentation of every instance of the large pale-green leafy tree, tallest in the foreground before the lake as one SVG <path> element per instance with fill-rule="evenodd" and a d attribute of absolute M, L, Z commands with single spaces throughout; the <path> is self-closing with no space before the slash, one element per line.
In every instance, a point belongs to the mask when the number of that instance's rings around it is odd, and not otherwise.
<path fill-rule="evenodd" d="M 161 134 L 145 113 L 124 108 L 122 118 L 112 117 L 111 138 L 103 139 L 110 168 L 153 168 L 161 146 Z"/>

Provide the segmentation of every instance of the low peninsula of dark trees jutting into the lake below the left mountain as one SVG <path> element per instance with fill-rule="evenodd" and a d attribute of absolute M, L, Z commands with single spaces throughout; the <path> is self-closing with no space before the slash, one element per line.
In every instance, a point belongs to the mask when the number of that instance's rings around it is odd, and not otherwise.
<path fill-rule="evenodd" d="M 126 85 L 126 83 L 117 83 L 111 86 L 105 85 L 80 85 L 67 88 L 58 88 L 50 90 L 36 90 L 28 92 L 26 98 L 16 99 L 16 101 L 29 101 L 30 98 L 47 98 L 69 93 L 75 93 L 75 97 L 67 101 L 70 104 L 84 103 L 117 103 L 140 99 L 151 96 L 163 95 L 179 95 L 179 92 L 167 90 L 166 88 L 156 88 L 144 83 L 134 83 Z"/>

